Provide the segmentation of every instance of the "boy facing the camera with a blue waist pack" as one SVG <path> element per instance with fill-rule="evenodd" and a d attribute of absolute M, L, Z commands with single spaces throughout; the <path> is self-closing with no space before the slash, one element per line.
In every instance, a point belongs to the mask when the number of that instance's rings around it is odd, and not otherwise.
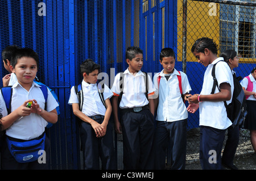
<path fill-rule="evenodd" d="M 5 116 L 2 118 L 2 124 L 8 137 L 3 145 L 2 169 L 48 169 L 50 145 L 49 139 L 45 135 L 45 128 L 47 122 L 53 124 L 57 122 L 56 107 L 58 104 L 47 89 L 47 110 L 44 110 L 46 102 L 43 92 L 40 86 L 34 82 L 38 71 L 38 61 L 38 54 L 34 50 L 22 48 L 16 50 L 15 57 L 11 62 L 10 69 L 15 73 L 17 81 L 12 86 L 11 113 L 7 115 L 6 107 L 2 110 Z M 2 94 L 0 102 L 4 102 Z M 26 107 L 28 102 L 32 102 L 31 108 Z M 9 140 L 22 142 L 20 144 L 23 145 L 44 136 L 46 136 L 43 139 L 46 163 L 39 163 L 38 160 L 20 163 L 16 161 L 7 146 Z M 28 158 L 26 157 L 26 159 Z"/>

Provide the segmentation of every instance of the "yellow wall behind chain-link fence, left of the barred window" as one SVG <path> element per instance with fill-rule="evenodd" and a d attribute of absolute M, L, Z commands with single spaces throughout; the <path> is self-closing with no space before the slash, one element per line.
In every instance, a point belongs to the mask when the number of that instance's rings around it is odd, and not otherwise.
<path fill-rule="evenodd" d="M 195 40 L 209 37 L 220 43 L 220 5 L 216 3 L 187 1 L 187 61 L 196 61 L 191 52 Z M 177 1 L 177 60 L 182 61 L 183 1 Z"/>

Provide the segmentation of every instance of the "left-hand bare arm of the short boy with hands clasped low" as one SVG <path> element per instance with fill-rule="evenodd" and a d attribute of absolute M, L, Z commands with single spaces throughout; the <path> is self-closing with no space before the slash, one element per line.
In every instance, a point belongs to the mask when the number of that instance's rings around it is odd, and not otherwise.
<path fill-rule="evenodd" d="M 78 103 L 73 103 L 72 108 L 75 116 L 79 117 L 79 119 L 81 119 L 82 121 L 85 121 L 86 123 L 92 125 L 92 128 L 94 129 L 94 132 L 96 133 L 97 137 L 100 137 L 104 133 L 104 127 L 101 124 L 98 124 L 93 119 L 90 119 L 90 117 L 86 116 L 84 113 L 82 113 L 79 110 Z"/>

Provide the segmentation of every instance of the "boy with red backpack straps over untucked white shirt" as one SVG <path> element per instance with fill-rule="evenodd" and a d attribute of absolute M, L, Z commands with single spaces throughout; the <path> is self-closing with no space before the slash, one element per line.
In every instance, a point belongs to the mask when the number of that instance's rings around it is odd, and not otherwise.
<path fill-rule="evenodd" d="M 162 49 L 159 61 L 163 70 L 155 74 L 153 79 L 156 89 L 155 95 L 157 95 L 157 98 L 154 99 L 155 107 L 157 107 L 154 138 L 155 169 L 164 169 L 169 142 L 171 169 L 185 169 L 188 112 L 184 100 L 187 100 L 186 96 L 191 91 L 191 86 L 187 75 L 174 68 L 174 50 L 171 48 Z M 181 82 L 179 82 L 179 76 Z M 182 94 L 179 87 L 180 83 Z"/>

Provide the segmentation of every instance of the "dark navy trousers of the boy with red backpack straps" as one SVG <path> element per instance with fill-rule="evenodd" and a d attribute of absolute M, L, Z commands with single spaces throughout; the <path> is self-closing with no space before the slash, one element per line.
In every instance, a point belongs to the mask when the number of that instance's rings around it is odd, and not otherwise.
<path fill-rule="evenodd" d="M 166 166 L 166 150 L 170 148 L 167 157 L 171 159 L 171 169 L 185 169 L 187 150 L 187 119 L 167 122 L 156 121 L 154 139 L 155 168 L 164 169 Z"/>

